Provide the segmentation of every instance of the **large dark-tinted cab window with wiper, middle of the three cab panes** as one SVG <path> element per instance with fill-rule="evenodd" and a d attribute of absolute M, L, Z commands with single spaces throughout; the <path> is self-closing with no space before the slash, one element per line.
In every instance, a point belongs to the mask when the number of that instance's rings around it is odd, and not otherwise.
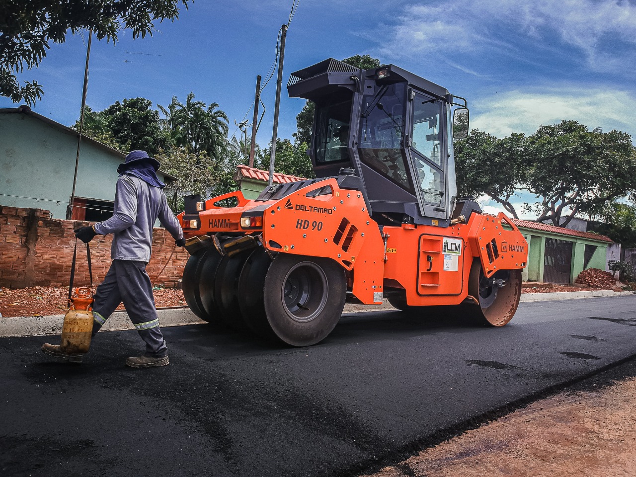
<path fill-rule="evenodd" d="M 364 96 L 359 138 L 360 159 L 402 188 L 413 191 L 402 150 L 406 83 L 384 85 Z"/>

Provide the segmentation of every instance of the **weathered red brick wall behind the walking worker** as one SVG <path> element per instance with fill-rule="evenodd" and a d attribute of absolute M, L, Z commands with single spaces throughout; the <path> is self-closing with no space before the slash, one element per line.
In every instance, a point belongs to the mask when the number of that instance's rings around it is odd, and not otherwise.
<path fill-rule="evenodd" d="M 51 219 L 49 211 L 0 205 L 0 286 L 68 286 L 75 245 L 73 230 L 91 222 Z M 111 265 L 112 235 L 97 235 L 90 242 L 93 283 L 104 279 Z M 146 267 L 150 279 L 165 287 L 176 286 L 188 260 L 186 249 L 174 249 L 174 239 L 163 228 L 153 232 L 153 252 Z M 75 286 L 87 286 L 86 246 L 78 240 Z"/>

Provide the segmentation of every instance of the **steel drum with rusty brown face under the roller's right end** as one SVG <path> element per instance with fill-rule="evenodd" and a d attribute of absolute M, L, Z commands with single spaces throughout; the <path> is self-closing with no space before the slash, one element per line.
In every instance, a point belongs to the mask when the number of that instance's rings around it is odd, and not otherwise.
<path fill-rule="evenodd" d="M 503 280 L 503 287 L 497 286 Z M 521 270 L 499 270 L 487 279 L 481 262 L 474 260 L 469 275 L 468 293 L 479 301 L 471 305 L 470 312 L 490 326 L 504 326 L 513 319 L 521 298 Z"/>

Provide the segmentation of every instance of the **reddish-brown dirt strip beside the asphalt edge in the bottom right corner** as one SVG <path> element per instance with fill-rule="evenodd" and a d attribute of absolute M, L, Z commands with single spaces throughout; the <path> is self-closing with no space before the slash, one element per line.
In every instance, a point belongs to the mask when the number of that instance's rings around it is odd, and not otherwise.
<path fill-rule="evenodd" d="M 636 361 L 368 475 L 634 476 Z"/>

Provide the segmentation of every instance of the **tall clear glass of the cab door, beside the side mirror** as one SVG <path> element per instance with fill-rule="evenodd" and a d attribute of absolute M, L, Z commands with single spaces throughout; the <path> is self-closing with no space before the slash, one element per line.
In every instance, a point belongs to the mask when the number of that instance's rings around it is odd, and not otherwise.
<path fill-rule="evenodd" d="M 443 154 L 441 148 L 442 103 L 419 93 L 413 101 L 412 144 L 417 186 L 425 202 L 441 205 L 444 191 Z"/>

